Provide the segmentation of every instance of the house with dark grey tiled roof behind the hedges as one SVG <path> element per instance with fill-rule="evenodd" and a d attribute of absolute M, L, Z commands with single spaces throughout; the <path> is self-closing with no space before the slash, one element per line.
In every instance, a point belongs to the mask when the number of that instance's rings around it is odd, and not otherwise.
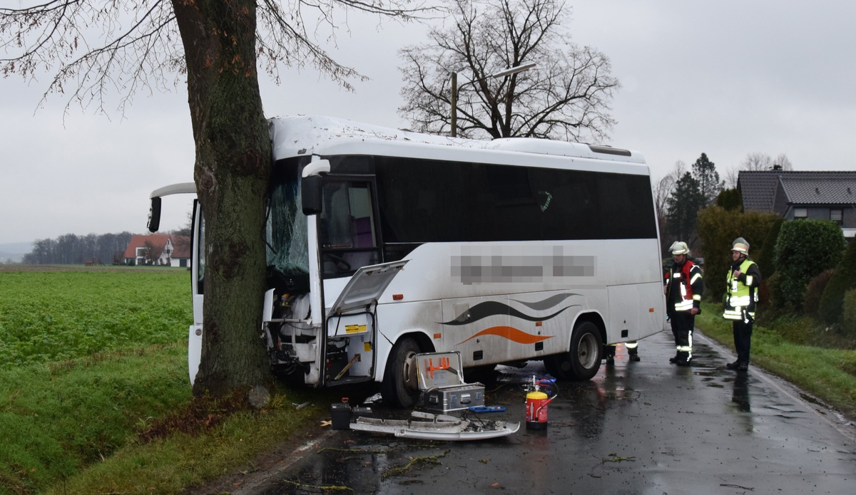
<path fill-rule="evenodd" d="M 772 211 L 785 220 L 831 220 L 848 240 L 856 235 L 856 172 L 741 170 L 737 189 L 745 211 Z"/>

